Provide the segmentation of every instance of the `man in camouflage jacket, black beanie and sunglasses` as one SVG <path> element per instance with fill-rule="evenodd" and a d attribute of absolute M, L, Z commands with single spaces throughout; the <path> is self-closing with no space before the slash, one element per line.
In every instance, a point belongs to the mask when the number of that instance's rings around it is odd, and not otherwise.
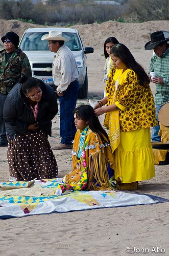
<path fill-rule="evenodd" d="M 3 118 L 5 99 L 19 78 L 23 74 L 32 76 L 32 71 L 27 55 L 18 48 L 19 36 L 10 31 L 1 40 L 5 49 L 0 51 L 0 146 L 6 146 L 8 140 Z"/>

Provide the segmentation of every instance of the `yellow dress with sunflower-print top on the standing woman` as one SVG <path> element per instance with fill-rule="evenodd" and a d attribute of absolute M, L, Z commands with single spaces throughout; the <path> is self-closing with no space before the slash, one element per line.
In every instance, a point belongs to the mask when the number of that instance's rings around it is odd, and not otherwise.
<path fill-rule="evenodd" d="M 118 106 L 105 116 L 115 155 L 115 179 L 123 183 L 155 177 L 150 127 L 156 124 L 155 105 L 149 84 L 141 86 L 134 71 L 116 70 L 108 104 Z M 117 120 L 117 118 L 116 118 Z"/>

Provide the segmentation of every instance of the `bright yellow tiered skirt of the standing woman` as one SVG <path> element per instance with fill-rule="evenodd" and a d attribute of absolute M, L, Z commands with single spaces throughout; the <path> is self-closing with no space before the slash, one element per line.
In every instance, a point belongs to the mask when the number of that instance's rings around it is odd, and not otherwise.
<path fill-rule="evenodd" d="M 150 128 L 120 132 L 115 150 L 115 179 L 123 183 L 155 177 Z"/>

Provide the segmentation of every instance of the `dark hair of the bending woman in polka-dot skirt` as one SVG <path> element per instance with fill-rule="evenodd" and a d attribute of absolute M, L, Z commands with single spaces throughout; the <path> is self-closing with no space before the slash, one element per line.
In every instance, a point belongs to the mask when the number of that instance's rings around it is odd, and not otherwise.
<path fill-rule="evenodd" d="M 27 95 L 32 88 L 35 88 L 35 87 L 40 87 L 41 88 L 41 83 L 42 82 L 41 82 L 41 80 L 39 80 L 35 77 L 28 77 L 26 75 L 23 75 L 19 79 L 19 83 L 21 83 L 22 92 L 25 95 Z"/>

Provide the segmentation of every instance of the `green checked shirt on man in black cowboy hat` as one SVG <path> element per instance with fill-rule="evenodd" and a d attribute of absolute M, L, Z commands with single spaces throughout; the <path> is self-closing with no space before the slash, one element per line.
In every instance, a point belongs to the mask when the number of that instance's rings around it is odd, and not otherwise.
<path fill-rule="evenodd" d="M 157 77 L 163 77 L 163 84 L 156 84 L 155 104 L 161 105 L 169 101 L 169 48 L 162 57 L 157 54 L 151 58 L 149 73 L 155 72 Z"/>

